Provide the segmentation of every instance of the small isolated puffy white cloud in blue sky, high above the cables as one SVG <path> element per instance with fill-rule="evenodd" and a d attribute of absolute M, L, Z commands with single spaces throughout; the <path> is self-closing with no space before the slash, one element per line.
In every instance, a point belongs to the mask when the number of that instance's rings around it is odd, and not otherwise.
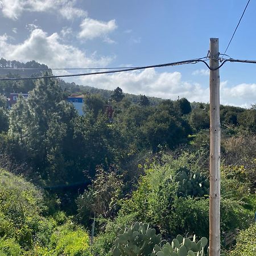
<path fill-rule="evenodd" d="M 109 22 L 103 22 L 101 20 L 86 18 L 80 24 L 81 31 L 79 32 L 79 38 L 94 39 L 94 38 L 108 38 L 108 34 L 117 28 L 115 20 L 109 20 Z"/>

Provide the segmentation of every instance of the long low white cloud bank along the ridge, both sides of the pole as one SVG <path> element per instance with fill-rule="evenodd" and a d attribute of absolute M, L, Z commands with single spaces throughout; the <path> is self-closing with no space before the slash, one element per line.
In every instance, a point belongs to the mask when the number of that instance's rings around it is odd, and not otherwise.
<path fill-rule="evenodd" d="M 144 71 L 114 73 L 80 77 L 79 83 L 113 90 L 117 86 L 126 93 L 145 94 L 160 98 L 186 97 L 189 101 L 209 102 L 209 86 L 197 82 L 183 81 L 180 72 L 156 72 L 154 68 Z M 228 81 L 220 84 L 220 100 L 224 105 L 250 107 L 255 102 L 256 84 L 228 86 Z"/>

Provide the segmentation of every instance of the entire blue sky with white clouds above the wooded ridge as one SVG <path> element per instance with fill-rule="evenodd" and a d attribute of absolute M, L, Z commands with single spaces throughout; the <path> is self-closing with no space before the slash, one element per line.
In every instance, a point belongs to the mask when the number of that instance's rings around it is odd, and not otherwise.
<path fill-rule="evenodd" d="M 0 57 L 36 60 L 51 68 L 129 67 L 207 55 L 209 38 L 224 53 L 247 0 L 0 0 Z M 256 59 L 251 1 L 226 52 Z M 220 69 L 221 103 L 256 102 L 256 65 L 227 63 Z M 79 71 L 76 71 L 79 72 Z M 58 71 L 56 74 L 67 74 Z M 70 78 L 78 84 L 175 100 L 209 102 L 203 63 Z"/>

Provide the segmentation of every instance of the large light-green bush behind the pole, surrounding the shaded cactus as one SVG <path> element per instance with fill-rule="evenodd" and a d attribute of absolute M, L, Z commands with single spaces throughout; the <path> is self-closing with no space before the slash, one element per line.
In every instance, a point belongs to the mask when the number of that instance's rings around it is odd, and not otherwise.
<path fill-rule="evenodd" d="M 133 213 L 137 216 L 137 221 L 147 222 L 165 237 L 173 238 L 177 234 L 207 237 L 209 233 L 207 192 L 180 195 L 180 188 L 184 187 L 186 180 L 181 183 L 177 181 L 182 174 L 181 170 L 189 170 L 189 177 L 199 173 L 200 163 L 196 156 L 183 153 L 175 159 L 163 155 L 159 162 L 162 162 L 162 165 L 153 163 L 146 168 L 146 175 L 141 177 L 137 191 L 133 192 L 130 199 L 123 200 L 119 214 L 125 216 Z M 199 177 L 198 182 L 191 182 L 191 189 L 204 188 L 203 185 L 200 186 L 205 182 L 205 178 L 201 179 L 204 177 L 202 172 Z M 226 176 L 226 179 L 229 178 L 233 181 L 233 178 Z M 240 185 L 240 183 L 236 184 Z M 245 194 L 242 193 L 241 196 L 240 188 L 237 188 L 233 182 L 227 183 L 224 188 L 230 189 L 232 195 L 240 197 L 235 198 L 227 192 L 226 197 L 224 195 L 221 199 L 221 232 L 247 228 L 253 220 L 253 213 L 244 208 L 242 196 Z M 243 192 L 243 187 L 241 191 Z"/>

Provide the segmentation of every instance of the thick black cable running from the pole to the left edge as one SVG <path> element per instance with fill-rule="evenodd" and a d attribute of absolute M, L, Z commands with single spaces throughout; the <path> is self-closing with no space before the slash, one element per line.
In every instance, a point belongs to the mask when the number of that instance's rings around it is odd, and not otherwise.
<path fill-rule="evenodd" d="M 101 74 L 110 74 L 110 73 L 119 73 L 119 72 L 127 72 L 127 71 L 135 71 L 135 70 L 141 70 L 141 69 L 147 69 L 147 68 L 162 68 L 162 67 L 171 67 L 175 65 L 184 65 L 184 64 L 192 64 L 192 63 L 198 63 L 198 62 L 204 62 L 208 68 L 209 65 L 204 61 L 206 57 L 202 57 L 200 59 L 192 59 L 192 60 L 183 60 L 183 61 L 177 61 L 173 63 L 165 63 L 165 64 L 157 64 L 157 65 L 149 65 L 149 66 L 143 66 L 143 67 L 132 67 L 132 68 L 124 68 L 124 69 L 118 69 L 113 71 L 102 71 L 102 72 L 91 72 L 91 73 L 82 73 L 82 74 L 72 74 L 72 75 L 59 75 L 59 76 L 40 76 L 40 77 L 22 77 L 22 78 L 5 78 L 0 79 L 0 81 L 15 81 L 15 80 L 34 80 L 34 79 L 50 79 L 50 78 L 58 78 L 58 77 L 75 77 L 75 76 L 91 76 L 91 75 L 101 75 Z"/>

